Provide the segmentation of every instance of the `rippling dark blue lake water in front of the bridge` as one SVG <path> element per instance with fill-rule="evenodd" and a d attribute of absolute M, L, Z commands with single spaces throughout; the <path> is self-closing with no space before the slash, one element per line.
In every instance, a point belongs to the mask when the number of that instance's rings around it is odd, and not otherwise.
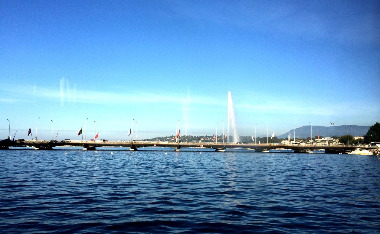
<path fill-rule="evenodd" d="M 0 151 L 0 232 L 380 231 L 374 155 L 72 149 Z"/>

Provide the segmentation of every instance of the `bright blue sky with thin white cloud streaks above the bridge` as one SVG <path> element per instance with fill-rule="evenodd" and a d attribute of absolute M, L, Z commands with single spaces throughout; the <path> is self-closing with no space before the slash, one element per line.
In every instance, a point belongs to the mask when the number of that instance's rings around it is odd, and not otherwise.
<path fill-rule="evenodd" d="M 0 2 L 0 138 L 380 121 L 379 1 Z M 223 122 L 222 122 L 223 121 Z M 135 126 L 134 126 L 135 127 Z M 13 137 L 13 136 L 12 136 Z M 30 136 L 28 137 L 28 139 Z"/>

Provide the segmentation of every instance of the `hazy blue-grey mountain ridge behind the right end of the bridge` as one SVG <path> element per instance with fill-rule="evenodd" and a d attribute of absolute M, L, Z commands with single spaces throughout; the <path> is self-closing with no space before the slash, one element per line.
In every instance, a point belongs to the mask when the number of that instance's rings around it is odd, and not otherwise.
<path fill-rule="evenodd" d="M 358 125 L 341 125 L 341 126 L 313 126 L 313 138 L 319 135 L 323 137 L 332 137 L 332 136 L 344 136 L 348 134 L 353 135 L 354 137 L 359 134 L 359 137 L 366 135 L 370 126 L 358 126 Z M 311 126 L 302 126 L 298 127 L 295 130 L 296 138 L 307 138 L 311 135 Z M 278 138 L 287 138 L 290 133 L 290 137 L 293 136 L 293 129 L 289 130 L 287 133 L 277 136 Z"/>

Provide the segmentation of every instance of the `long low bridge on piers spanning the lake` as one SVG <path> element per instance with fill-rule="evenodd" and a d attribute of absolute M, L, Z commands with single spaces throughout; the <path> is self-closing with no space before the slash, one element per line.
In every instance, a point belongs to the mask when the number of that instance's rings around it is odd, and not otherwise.
<path fill-rule="evenodd" d="M 176 141 L 80 141 L 80 140 L 63 140 L 63 141 L 46 141 L 46 140 L 2 140 L 0 141 L 1 149 L 9 149 L 12 146 L 31 146 L 35 149 L 53 149 L 57 146 L 79 146 L 84 150 L 95 150 L 97 147 L 118 146 L 127 147 L 130 150 L 138 150 L 144 147 L 167 147 L 179 151 L 181 148 L 211 148 L 215 151 L 223 152 L 230 148 L 247 148 L 254 149 L 258 152 L 268 152 L 269 149 L 291 149 L 294 152 L 312 152 L 313 150 L 324 149 L 326 153 L 348 153 L 356 148 L 377 149 L 377 146 L 358 147 L 356 145 L 331 145 L 321 146 L 314 144 L 288 145 L 288 144 L 255 144 L 255 143 L 222 143 L 222 142 L 176 142 Z"/>

